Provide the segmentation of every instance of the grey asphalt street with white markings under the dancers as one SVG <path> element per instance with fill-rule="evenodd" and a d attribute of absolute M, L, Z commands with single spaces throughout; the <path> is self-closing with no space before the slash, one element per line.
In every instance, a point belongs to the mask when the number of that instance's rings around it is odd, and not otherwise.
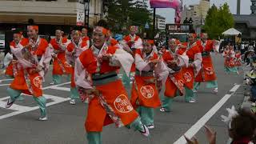
<path fill-rule="evenodd" d="M 138 132 L 117 129 L 114 125 L 103 129 L 104 144 L 182 144 L 183 134 L 195 136 L 199 143 L 206 143 L 202 126 L 206 122 L 217 131 L 217 143 L 226 143 L 228 138 L 226 125 L 220 116 L 227 114 L 226 107 L 238 106 L 243 101 L 242 74 L 224 74 L 222 56 L 213 54 L 214 67 L 218 76 L 218 94 L 202 86 L 198 90 L 197 103 L 186 103 L 184 98 L 175 98 L 171 113 L 155 110 L 155 129 L 151 130 L 150 138 L 144 138 Z M 242 72 L 242 70 L 241 70 Z M 44 82 L 44 94 L 48 103 L 49 120 L 39 122 L 37 104 L 30 96 L 15 102 L 10 109 L 4 108 L 6 88 L 11 80 L 1 78 L 0 83 L 0 143 L 1 144 L 82 144 L 86 142 L 84 120 L 86 104 L 69 103 L 69 83 L 50 86 L 51 74 Z M 66 77 L 63 82 L 67 82 Z M 127 88 L 130 90 L 130 88 Z M 97 113 L 97 112 L 95 112 Z M 199 130 L 199 131 L 198 131 Z"/>

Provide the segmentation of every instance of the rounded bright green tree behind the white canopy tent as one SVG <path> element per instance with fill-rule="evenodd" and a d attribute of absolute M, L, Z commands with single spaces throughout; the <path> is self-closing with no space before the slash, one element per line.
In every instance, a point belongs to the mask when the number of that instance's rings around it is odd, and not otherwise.
<path fill-rule="evenodd" d="M 230 8 L 225 3 L 219 8 L 211 6 L 206 16 L 204 29 L 209 34 L 210 38 L 218 38 L 222 32 L 234 26 L 234 18 L 230 13 Z"/>

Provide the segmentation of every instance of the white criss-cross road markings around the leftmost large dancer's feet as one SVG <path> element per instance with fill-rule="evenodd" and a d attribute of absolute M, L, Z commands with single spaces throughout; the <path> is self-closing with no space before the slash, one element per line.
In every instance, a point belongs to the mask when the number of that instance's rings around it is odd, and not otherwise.
<path fill-rule="evenodd" d="M 55 88 L 57 86 L 63 86 L 63 85 L 66 85 L 66 84 L 69 84 L 70 82 L 66 82 L 66 83 L 62 83 L 62 84 L 59 84 L 59 85 L 54 85 L 54 86 L 46 86 L 44 87 L 42 90 L 46 90 L 46 89 L 51 89 L 51 88 Z M 60 89 L 58 90 L 64 90 L 66 87 L 58 87 Z M 65 89 L 66 90 L 66 89 Z M 27 95 L 27 94 L 24 94 L 24 95 Z M 61 102 L 66 102 L 66 101 L 69 101 L 70 98 L 62 98 L 62 97 L 57 97 L 57 96 L 54 96 L 54 95 L 50 95 L 50 94 L 43 94 L 43 96 L 46 98 L 46 99 L 51 99 L 53 102 L 48 102 L 46 103 L 46 106 L 52 106 L 52 105 L 55 105 L 55 104 L 58 104 L 58 103 L 61 103 Z M 4 102 L 4 100 L 8 99 L 10 97 L 5 97 L 5 98 L 0 98 L 0 107 L 2 108 L 5 108 L 6 106 L 6 102 Z M 11 112 L 9 114 L 4 114 L 4 115 L 1 115 L 0 116 L 0 120 L 1 119 L 4 119 L 4 118 L 10 118 L 14 115 L 17 115 L 17 114 L 22 114 L 22 113 L 26 113 L 26 112 L 29 112 L 29 111 L 32 111 L 32 110 L 37 110 L 39 109 L 38 106 L 34 106 L 34 107 L 30 107 L 30 106 L 19 106 L 19 105 L 16 105 L 14 104 L 13 106 L 11 106 L 9 108 L 10 110 L 16 110 L 14 112 Z"/>

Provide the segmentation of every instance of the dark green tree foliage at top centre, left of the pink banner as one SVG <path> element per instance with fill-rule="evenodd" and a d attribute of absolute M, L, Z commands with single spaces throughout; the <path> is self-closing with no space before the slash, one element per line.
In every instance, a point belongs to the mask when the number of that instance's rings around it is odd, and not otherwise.
<path fill-rule="evenodd" d="M 144 27 L 151 22 L 146 0 L 111 0 L 107 6 L 107 21 L 112 31 L 121 31 L 130 25 Z"/>

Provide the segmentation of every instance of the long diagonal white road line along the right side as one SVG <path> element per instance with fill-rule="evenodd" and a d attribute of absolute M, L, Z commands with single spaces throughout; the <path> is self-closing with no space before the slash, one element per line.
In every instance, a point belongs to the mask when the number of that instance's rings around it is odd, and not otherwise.
<path fill-rule="evenodd" d="M 238 90 L 240 85 L 234 86 L 230 92 L 234 92 Z M 233 94 L 226 94 L 218 103 L 216 103 L 202 118 L 198 120 L 193 126 L 190 127 L 189 130 L 186 131 L 184 135 L 186 135 L 187 138 L 194 137 L 194 134 L 197 134 L 198 131 L 202 128 L 202 126 L 205 126 L 206 122 L 210 120 L 212 116 L 225 104 L 225 102 L 233 95 Z M 174 144 L 186 144 L 186 139 L 184 136 L 178 138 Z"/>

